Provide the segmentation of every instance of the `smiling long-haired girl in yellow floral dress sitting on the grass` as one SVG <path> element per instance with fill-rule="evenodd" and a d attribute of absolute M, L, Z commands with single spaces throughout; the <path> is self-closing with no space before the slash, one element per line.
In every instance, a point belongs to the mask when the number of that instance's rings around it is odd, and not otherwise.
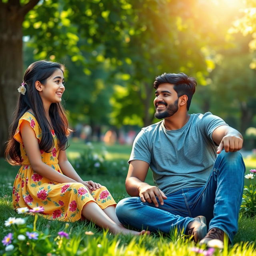
<path fill-rule="evenodd" d="M 118 221 L 106 187 L 84 181 L 66 156 L 68 122 L 61 105 L 64 67 L 37 61 L 24 74 L 6 159 L 21 165 L 13 187 L 14 208 L 42 206 L 42 216 L 74 222 L 92 220 L 114 234 L 144 234 Z"/>

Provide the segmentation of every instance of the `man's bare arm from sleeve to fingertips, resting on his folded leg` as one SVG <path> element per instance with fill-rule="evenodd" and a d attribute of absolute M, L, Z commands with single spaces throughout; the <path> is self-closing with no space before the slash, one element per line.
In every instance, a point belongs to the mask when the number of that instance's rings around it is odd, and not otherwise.
<path fill-rule="evenodd" d="M 156 186 L 150 186 L 144 182 L 148 173 L 149 164 L 142 160 L 130 162 L 128 174 L 125 181 L 126 191 L 130 196 L 139 196 L 142 202 L 153 202 L 158 207 L 158 198 L 161 205 L 167 197 Z"/>

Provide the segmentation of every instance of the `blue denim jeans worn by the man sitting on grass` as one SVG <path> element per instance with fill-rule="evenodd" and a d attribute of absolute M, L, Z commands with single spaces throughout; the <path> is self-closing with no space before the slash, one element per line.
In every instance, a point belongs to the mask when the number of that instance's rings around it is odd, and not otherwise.
<path fill-rule="evenodd" d="M 166 233 L 173 227 L 186 230 L 194 217 L 203 215 L 208 229 L 220 228 L 232 242 L 238 230 L 244 172 L 241 154 L 222 150 L 204 186 L 167 194 L 164 205 L 158 207 L 139 197 L 124 198 L 116 206 L 116 215 L 122 224 Z"/>

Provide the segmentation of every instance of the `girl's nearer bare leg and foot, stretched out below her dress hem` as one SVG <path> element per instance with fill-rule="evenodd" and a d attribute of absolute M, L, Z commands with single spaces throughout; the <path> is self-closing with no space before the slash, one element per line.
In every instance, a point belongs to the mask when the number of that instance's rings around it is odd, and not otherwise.
<path fill-rule="evenodd" d="M 118 234 L 134 234 L 134 235 L 141 235 L 145 234 L 146 230 L 142 230 L 141 232 L 136 232 L 134 230 L 128 230 L 122 226 L 119 226 L 111 220 L 110 217 L 96 204 L 95 202 L 91 201 L 84 205 L 82 209 L 82 214 L 87 220 L 92 220 L 96 225 L 100 226 L 101 228 L 109 229 L 112 233 Z M 150 232 L 147 232 L 149 234 Z"/>

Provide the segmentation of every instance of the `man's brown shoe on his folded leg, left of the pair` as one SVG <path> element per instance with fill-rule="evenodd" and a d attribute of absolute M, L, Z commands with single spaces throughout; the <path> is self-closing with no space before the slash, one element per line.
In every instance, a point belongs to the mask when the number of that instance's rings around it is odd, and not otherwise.
<path fill-rule="evenodd" d="M 197 216 L 188 223 L 185 234 L 193 236 L 194 241 L 198 242 L 206 235 L 206 232 L 206 218 L 204 216 Z"/>

